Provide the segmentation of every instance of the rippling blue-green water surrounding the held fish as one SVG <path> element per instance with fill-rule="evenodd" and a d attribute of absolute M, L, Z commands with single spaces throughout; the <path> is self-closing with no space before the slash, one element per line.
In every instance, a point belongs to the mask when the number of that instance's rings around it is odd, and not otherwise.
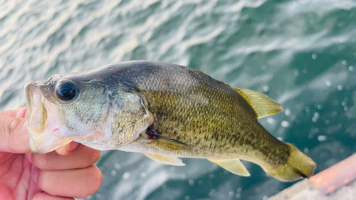
<path fill-rule="evenodd" d="M 356 152 L 356 1 L 0 1 L 0 110 L 23 85 L 123 60 L 197 68 L 265 93 L 286 112 L 260 120 L 318 173 Z M 267 199 L 293 183 L 246 163 L 238 177 L 205 159 L 185 167 L 103 152 L 88 199 Z"/>

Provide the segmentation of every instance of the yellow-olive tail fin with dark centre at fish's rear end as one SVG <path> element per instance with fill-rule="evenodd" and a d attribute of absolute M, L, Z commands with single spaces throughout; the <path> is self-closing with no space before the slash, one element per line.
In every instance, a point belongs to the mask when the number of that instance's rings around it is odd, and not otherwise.
<path fill-rule="evenodd" d="M 286 142 L 290 148 L 290 157 L 285 164 L 278 167 L 263 168 L 265 172 L 280 181 L 295 181 L 297 179 L 309 178 L 313 175 L 315 162 L 293 144 Z"/>

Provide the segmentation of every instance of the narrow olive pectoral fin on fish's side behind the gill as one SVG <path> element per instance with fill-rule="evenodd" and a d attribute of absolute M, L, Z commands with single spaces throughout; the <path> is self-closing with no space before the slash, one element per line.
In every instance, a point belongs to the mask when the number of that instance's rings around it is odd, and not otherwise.
<path fill-rule="evenodd" d="M 167 151 L 184 151 L 192 153 L 193 149 L 188 144 L 174 140 L 169 137 L 164 137 L 162 135 L 155 135 L 156 139 L 151 140 L 148 144 L 155 146 L 155 148 L 165 149 Z"/>

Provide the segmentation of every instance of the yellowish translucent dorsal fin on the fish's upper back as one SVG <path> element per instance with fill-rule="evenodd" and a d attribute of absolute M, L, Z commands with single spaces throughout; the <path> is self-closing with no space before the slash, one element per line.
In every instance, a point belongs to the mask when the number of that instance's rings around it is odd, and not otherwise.
<path fill-rule="evenodd" d="M 251 105 L 257 114 L 257 118 L 266 117 L 283 111 L 283 107 L 278 104 L 278 102 L 275 102 L 262 93 L 244 88 L 231 88 L 235 90 L 236 93 L 239 93 L 239 95 Z"/>

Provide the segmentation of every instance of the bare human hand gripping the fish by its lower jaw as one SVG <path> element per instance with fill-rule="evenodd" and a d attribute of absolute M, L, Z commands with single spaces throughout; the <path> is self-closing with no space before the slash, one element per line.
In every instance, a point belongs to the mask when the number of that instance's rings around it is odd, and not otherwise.
<path fill-rule="evenodd" d="M 0 112 L 0 199 L 73 199 L 97 191 L 100 151 L 76 142 L 31 154 L 26 107 Z"/>

